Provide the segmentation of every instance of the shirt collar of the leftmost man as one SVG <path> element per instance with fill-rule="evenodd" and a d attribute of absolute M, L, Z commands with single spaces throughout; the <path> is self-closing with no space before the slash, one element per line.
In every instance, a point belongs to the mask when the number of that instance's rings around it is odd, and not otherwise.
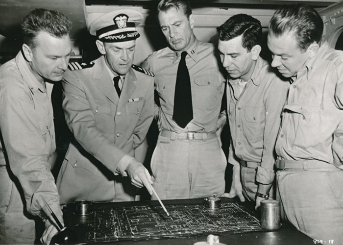
<path fill-rule="evenodd" d="M 38 81 L 38 79 L 33 75 L 29 68 L 29 63 L 25 60 L 22 51 L 19 51 L 16 58 L 16 63 L 19 68 L 20 73 L 23 77 L 25 77 L 24 81 L 31 90 L 31 92 L 34 94 L 37 90 L 47 93 L 47 89 L 45 86 L 45 83 L 41 83 Z"/>

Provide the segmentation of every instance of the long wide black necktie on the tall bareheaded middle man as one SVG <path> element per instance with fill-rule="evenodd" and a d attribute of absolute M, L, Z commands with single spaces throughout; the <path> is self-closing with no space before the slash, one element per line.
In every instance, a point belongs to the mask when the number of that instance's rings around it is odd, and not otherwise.
<path fill-rule="evenodd" d="M 193 119 L 191 79 L 186 66 L 187 52 L 181 53 L 177 68 L 172 119 L 182 128 Z"/>

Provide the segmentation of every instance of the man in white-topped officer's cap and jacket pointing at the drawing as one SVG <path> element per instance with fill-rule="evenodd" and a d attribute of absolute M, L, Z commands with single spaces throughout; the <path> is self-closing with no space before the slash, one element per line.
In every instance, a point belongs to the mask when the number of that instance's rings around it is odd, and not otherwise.
<path fill-rule="evenodd" d="M 153 117 L 153 74 L 132 64 L 143 16 L 130 9 L 93 21 L 102 54 L 73 62 L 63 77 L 63 109 L 75 140 L 57 177 L 61 204 L 130 201 L 135 186 L 151 192 L 151 176 L 135 159 Z"/>

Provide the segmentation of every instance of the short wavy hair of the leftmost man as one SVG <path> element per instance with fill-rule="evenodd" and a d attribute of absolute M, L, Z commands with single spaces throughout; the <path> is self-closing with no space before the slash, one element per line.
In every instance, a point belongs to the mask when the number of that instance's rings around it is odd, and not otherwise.
<path fill-rule="evenodd" d="M 36 37 L 41 31 L 62 38 L 70 33 L 72 22 L 60 12 L 37 8 L 24 17 L 21 29 L 23 42 L 31 49 L 35 49 Z"/>

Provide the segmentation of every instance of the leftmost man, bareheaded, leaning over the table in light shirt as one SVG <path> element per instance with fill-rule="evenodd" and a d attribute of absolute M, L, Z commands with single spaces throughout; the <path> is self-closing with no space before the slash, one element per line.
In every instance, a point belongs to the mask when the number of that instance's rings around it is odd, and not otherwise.
<path fill-rule="evenodd" d="M 22 50 L 0 67 L 0 244 L 35 243 L 41 234 L 35 234 L 34 216 L 44 218 L 47 210 L 43 198 L 63 223 L 50 172 L 55 137 L 46 83 L 60 81 L 67 70 L 71 26 L 57 11 L 31 11 L 21 25 Z M 56 223 L 44 221 L 41 241 L 49 244 Z"/>

